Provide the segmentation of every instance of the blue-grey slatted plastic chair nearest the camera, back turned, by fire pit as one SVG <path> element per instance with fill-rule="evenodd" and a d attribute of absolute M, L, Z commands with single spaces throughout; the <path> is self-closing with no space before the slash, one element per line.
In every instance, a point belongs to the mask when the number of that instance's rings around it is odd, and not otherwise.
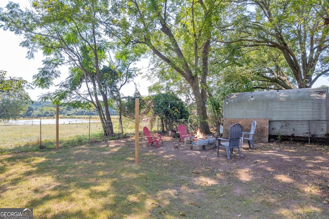
<path fill-rule="evenodd" d="M 242 126 L 238 123 L 233 124 L 228 129 L 228 139 L 227 138 L 217 138 L 217 156 L 220 152 L 220 146 L 224 146 L 226 148 L 227 158 L 230 158 L 230 153 L 233 153 L 233 149 L 237 148 L 239 151 L 239 155 L 241 157 L 240 151 L 240 141 L 242 134 Z"/>

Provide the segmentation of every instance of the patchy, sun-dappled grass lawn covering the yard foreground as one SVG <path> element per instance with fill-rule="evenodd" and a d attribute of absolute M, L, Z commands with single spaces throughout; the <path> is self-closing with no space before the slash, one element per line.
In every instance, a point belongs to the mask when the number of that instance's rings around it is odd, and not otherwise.
<path fill-rule="evenodd" d="M 0 207 L 33 208 L 34 218 L 328 218 L 310 171 L 288 181 L 279 166 L 267 171 L 264 151 L 227 160 L 164 140 L 146 148 L 140 138 L 138 165 L 134 138 L 1 155 Z"/>

